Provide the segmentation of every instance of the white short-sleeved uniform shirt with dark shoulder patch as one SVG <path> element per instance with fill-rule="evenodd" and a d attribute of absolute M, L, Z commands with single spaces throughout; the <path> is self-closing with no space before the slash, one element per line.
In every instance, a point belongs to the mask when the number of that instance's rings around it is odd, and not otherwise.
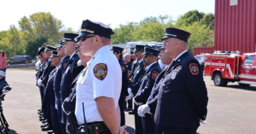
<path fill-rule="evenodd" d="M 87 66 L 86 73 L 79 76 L 75 89 L 75 116 L 79 125 L 84 123 L 82 103 L 86 122 L 100 122 L 103 119 L 98 112 L 95 99 L 101 96 L 111 97 L 117 107 L 121 92 L 121 67 L 109 46 L 100 48 L 88 61 Z"/>

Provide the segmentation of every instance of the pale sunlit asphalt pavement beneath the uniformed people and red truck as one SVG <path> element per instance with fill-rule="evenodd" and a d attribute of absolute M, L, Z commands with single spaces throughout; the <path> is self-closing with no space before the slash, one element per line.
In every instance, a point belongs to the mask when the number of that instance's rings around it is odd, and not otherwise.
<path fill-rule="evenodd" d="M 40 107 L 39 89 L 35 86 L 35 71 L 7 69 L 7 82 L 12 90 L 3 101 L 3 114 L 11 134 L 43 134 L 37 109 Z M 205 77 L 209 104 L 207 124 L 202 124 L 200 134 L 256 133 L 256 86 L 242 88 L 231 83 L 227 87 L 214 86 Z M 134 131 L 134 117 L 125 113 L 129 131 Z M 133 134 L 134 132 L 131 132 Z"/>

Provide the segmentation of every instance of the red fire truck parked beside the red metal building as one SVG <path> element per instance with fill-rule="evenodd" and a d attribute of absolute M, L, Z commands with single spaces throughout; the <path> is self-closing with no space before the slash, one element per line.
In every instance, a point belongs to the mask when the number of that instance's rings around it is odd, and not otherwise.
<path fill-rule="evenodd" d="M 240 86 L 256 84 L 256 52 L 215 51 L 206 54 L 204 75 L 211 76 L 215 86 L 226 86 L 228 82 L 238 82 Z"/>

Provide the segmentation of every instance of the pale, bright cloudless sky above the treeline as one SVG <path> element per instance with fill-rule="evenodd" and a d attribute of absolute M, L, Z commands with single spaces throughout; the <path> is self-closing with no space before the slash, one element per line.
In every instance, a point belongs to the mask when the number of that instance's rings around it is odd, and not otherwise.
<path fill-rule="evenodd" d="M 86 19 L 116 28 L 149 16 L 177 20 L 189 10 L 214 14 L 215 0 L 5 0 L 0 2 L 0 31 L 18 27 L 20 18 L 35 12 L 51 12 L 65 27 L 78 30 Z"/>

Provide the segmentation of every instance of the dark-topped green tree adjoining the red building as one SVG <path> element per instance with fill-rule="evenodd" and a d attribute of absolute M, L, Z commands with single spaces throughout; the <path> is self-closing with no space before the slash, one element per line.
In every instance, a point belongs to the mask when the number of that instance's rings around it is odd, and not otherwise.
<path fill-rule="evenodd" d="M 191 54 L 193 54 L 194 46 L 213 46 L 213 14 L 192 10 L 181 16 L 174 27 L 191 33 L 188 40 L 188 51 Z"/>

